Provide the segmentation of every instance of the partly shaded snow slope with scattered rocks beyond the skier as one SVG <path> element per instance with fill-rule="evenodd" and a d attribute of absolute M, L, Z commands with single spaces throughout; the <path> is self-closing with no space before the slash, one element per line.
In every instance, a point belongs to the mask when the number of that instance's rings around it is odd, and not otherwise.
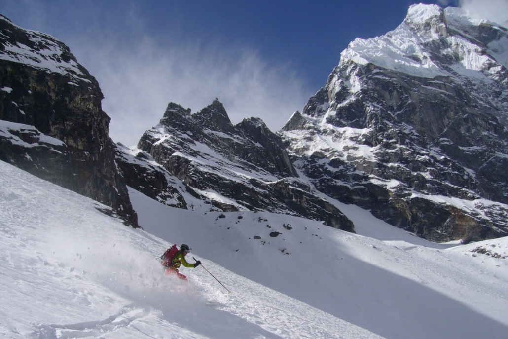
<path fill-rule="evenodd" d="M 356 229 L 385 241 L 290 215 L 192 212 L 130 196 L 146 231 L 384 337 L 508 337 L 505 259 L 443 249 L 450 244 L 382 225 L 355 206 L 343 211 Z"/>

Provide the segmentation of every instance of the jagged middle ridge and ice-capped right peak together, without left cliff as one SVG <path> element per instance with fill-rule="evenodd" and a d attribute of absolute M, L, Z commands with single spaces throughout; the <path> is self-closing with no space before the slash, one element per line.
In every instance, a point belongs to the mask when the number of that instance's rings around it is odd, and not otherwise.
<path fill-rule="evenodd" d="M 170 103 L 137 147 L 119 145 L 117 161 L 129 186 L 175 207 L 193 208 L 187 192 L 211 210 L 352 231 L 342 202 L 434 241 L 500 237 L 507 62 L 504 27 L 414 5 L 392 32 L 352 42 L 277 135 L 256 118 L 233 126 L 218 100 L 194 115 Z"/>

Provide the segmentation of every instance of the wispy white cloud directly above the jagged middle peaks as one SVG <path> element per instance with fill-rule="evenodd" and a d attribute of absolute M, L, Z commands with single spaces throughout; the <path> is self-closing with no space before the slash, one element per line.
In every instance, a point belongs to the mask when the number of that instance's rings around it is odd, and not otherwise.
<path fill-rule="evenodd" d="M 312 94 L 289 66 L 268 65 L 247 47 L 110 41 L 88 41 L 75 53 L 101 85 L 110 136 L 128 145 L 158 123 L 170 101 L 196 112 L 218 98 L 233 124 L 256 116 L 277 131 Z"/>

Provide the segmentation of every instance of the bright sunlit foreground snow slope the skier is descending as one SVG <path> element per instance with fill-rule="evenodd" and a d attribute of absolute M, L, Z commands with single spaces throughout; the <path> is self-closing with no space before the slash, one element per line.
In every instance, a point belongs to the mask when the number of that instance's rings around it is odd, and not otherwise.
<path fill-rule="evenodd" d="M 0 337 L 380 337 L 201 257 L 232 294 L 201 268 L 168 278 L 170 243 L 4 162 L 0 188 Z"/>

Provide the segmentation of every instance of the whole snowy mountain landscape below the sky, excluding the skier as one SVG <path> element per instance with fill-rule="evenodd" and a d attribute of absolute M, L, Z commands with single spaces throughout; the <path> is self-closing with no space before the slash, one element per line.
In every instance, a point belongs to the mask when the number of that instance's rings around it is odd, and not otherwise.
<path fill-rule="evenodd" d="M 278 134 L 170 103 L 116 149 L 67 47 L 0 28 L 1 159 L 94 199 L 0 161 L 0 336 L 508 337 L 508 237 L 391 226 L 505 234 L 503 27 L 412 6 Z"/>

